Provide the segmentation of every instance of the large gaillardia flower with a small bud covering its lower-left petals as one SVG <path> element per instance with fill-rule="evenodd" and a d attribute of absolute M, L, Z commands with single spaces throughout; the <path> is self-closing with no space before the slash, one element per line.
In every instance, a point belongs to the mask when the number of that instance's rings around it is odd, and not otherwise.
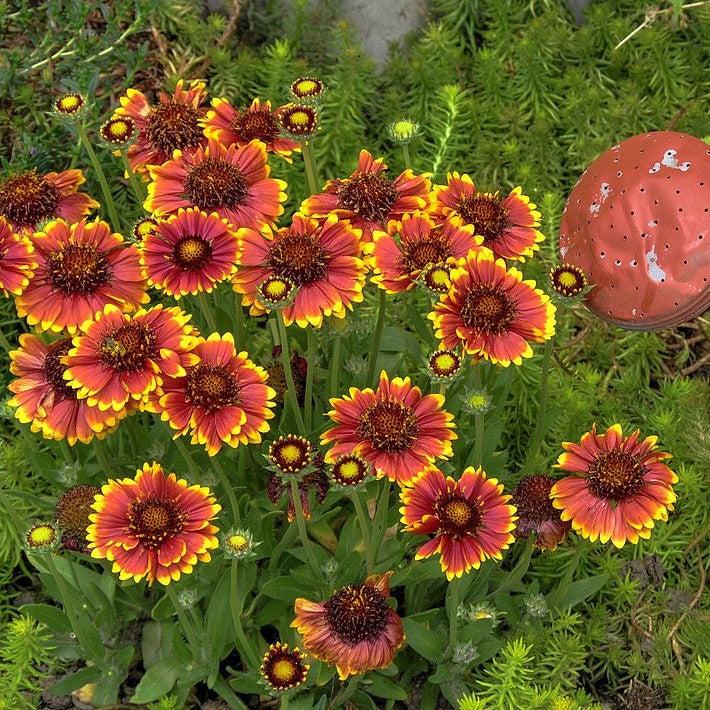
<path fill-rule="evenodd" d="M 297 287 L 293 303 L 283 309 L 287 325 L 320 327 L 323 316 L 344 318 L 346 309 L 362 301 L 365 264 L 360 258 L 360 232 L 345 220 L 325 220 L 295 214 L 290 227 L 273 236 L 244 230 L 241 266 L 234 290 L 244 294 L 252 314 L 264 312 L 257 288 L 271 276 L 287 278 Z"/>

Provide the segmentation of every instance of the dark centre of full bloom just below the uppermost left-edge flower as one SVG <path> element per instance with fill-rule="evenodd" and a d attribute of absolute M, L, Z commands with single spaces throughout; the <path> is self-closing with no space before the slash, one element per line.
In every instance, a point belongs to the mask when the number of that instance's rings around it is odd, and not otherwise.
<path fill-rule="evenodd" d="M 108 283 L 106 254 L 93 244 L 65 244 L 47 255 L 47 280 L 68 295 L 89 295 Z"/>

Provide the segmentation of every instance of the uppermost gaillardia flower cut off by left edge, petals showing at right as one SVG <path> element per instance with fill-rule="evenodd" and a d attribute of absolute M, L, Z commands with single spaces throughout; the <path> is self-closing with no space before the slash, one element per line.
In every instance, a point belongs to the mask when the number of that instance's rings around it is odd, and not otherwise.
<path fill-rule="evenodd" d="M 25 233 L 33 232 L 40 222 L 57 217 L 78 222 L 99 206 L 87 194 L 77 192 L 85 181 L 81 170 L 46 175 L 26 170 L 0 179 L 0 217 Z"/>

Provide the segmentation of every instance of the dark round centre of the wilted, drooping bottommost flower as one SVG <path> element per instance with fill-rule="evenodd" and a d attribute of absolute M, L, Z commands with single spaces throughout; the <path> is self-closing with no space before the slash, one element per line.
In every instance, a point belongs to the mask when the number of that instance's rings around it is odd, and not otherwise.
<path fill-rule="evenodd" d="M 387 600 L 367 584 L 350 584 L 323 606 L 330 631 L 347 644 L 377 640 L 389 618 Z"/>

